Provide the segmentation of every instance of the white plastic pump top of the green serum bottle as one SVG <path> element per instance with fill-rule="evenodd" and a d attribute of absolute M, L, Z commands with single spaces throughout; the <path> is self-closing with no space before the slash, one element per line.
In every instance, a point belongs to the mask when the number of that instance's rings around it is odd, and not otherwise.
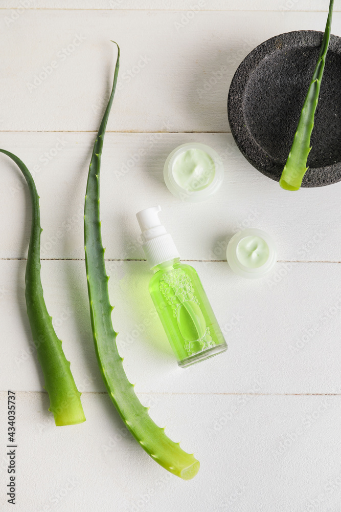
<path fill-rule="evenodd" d="M 161 206 L 152 206 L 136 214 L 142 231 L 142 247 L 149 268 L 180 257 L 172 237 L 158 218 L 159 211 L 161 211 Z"/>

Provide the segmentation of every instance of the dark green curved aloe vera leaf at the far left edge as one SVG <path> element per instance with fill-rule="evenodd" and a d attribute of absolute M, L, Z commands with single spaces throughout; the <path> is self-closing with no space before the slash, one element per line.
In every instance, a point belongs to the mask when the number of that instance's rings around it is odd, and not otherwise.
<path fill-rule="evenodd" d="M 43 296 L 40 279 L 40 212 L 39 196 L 30 171 L 18 158 L 6 150 L 1 153 L 9 156 L 19 167 L 28 184 L 32 202 L 32 225 L 25 274 L 25 298 L 30 321 L 33 343 L 44 375 L 44 389 L 49 394 L 50 408 L 57 426 L 74 425 L 85 421 L 78 391 L 61 346 L 61 340 L 52 325 Z"/>

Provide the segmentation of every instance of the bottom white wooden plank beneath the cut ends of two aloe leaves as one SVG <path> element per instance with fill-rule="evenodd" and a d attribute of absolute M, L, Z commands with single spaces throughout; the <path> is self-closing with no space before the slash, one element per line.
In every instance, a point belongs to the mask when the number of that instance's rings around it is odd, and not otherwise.
<path fill-rule="evenodd" d="M 18 512 L 338 510 L 340 397 L 148 395 L 155 421 L 200 461 L 188 482 L 126 434 L 107 395 L 82 398 L 87 421 L 56 428 L 46 394 L 17 394 Z M 2 417 L 6 406 L 2 393 Z M 2 489 L 6 463 L 3 448 Z"/>

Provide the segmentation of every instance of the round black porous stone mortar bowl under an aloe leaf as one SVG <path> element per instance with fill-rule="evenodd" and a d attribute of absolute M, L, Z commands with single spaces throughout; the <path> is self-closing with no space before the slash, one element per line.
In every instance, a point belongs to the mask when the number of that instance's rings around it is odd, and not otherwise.
<path fill-rule="evenodd" d="M 249 53 L 229 91 L 232 135 L 245 158 L 279 181 L 286 163 L 323 32 L 300 30 L 271 37 Z M 312 150 L 302 187 L 341 180 L 341 38 L 331 35 L 320 99 L 311 136 Z"/>

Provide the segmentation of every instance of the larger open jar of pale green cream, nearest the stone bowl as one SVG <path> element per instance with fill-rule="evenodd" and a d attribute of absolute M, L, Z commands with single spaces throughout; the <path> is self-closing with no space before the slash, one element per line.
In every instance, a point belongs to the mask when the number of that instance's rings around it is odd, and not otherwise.
<path fill-rule="evenodd" d="M 224 169 L 221 158 L 212 147 L 189 142 L 168 155 L 164 178 L 174 196 L 196 203 L 216 193 L 223 181 Z"/>

